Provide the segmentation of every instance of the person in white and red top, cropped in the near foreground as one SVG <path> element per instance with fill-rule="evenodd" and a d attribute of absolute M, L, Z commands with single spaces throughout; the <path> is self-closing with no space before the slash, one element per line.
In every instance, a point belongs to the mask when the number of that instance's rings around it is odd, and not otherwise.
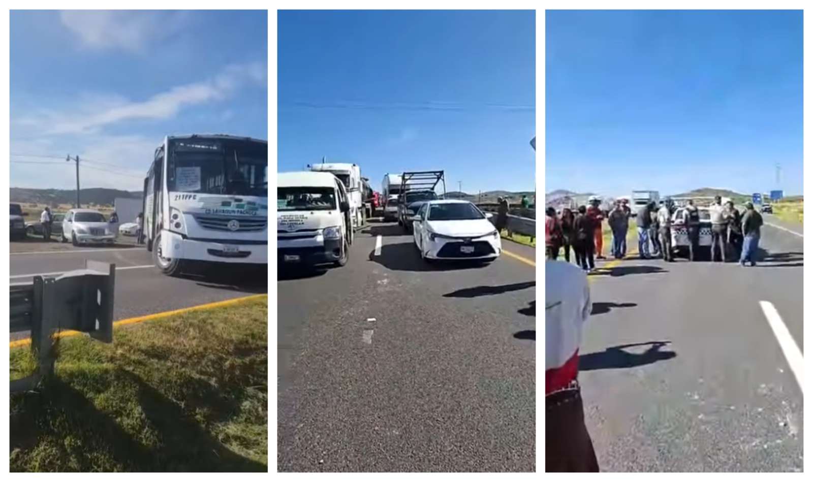
<path fill-rule="evenodd" d="M 545 469 L 596 472 L 579 386 L 582 329 L 593 305 L 587 276 L 560 261 L 545 263 Z"/>

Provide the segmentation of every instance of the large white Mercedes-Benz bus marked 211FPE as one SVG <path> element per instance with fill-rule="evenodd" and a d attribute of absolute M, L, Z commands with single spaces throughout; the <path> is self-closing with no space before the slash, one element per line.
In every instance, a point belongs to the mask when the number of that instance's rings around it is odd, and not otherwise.
<path fill-rule="evenodd" d="M 163 273 L 191 263 L 268 263 L 268 143 L 168 136 L 144 180 L 147 250 Z"/>

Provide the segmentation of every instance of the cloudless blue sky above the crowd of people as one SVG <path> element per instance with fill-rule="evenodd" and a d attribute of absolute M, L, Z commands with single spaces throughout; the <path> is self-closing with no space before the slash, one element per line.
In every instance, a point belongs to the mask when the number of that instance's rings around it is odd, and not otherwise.
<path fill-rule="evenodd" d="M 546 191 L 802 193 L 801 11 L 548 11 Z"/>

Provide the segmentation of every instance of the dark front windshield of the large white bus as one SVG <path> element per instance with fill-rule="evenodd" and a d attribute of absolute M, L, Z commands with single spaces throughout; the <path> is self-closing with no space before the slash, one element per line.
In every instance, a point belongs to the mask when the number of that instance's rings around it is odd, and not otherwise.
<path fill-rule="evenodd" d="M 268 196 L 268 145 L 237 139 L 171 139 L 170 191 Z"/>

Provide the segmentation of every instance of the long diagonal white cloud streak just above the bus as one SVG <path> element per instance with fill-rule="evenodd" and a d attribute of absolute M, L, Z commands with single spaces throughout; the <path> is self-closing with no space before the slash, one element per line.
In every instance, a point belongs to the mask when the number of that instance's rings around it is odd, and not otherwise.
<path fill-rule="evenodd" d="M 184 107 L 222 101 L 244 85 L 264 85 L 266 68 L 261 62 L 230 65 L 208 80 L 178 85 L 140 102 L 117 95 L 85 94 L 76 106 L 63 111 L 41 110 L 12 122 L 54 135 L 95 133 L 126 120 L 172 119 Z"/>

